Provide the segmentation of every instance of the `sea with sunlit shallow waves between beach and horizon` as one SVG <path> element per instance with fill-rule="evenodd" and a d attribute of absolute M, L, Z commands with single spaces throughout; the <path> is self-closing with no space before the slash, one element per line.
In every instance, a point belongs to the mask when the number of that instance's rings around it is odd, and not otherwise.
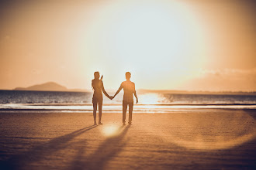
<path fill-rule="evenodd" d="M 202 108 L 256 109 L 256 95 L 137 92 L 137 96 L 139 103 L 133 109 L 137 113 L 165 113 L 177 109 Z M 120 112 L 122 100 L 123 92 L 113 100 L 104 97 L 103 110 Z M 92 112 L 92 93 L 0 90 L 0 110 Z"/>

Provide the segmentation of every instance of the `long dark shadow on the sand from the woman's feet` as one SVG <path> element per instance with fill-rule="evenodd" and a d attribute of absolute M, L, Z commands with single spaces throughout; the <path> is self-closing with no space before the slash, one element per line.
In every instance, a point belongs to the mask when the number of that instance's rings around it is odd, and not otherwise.
<path fill-rule="evenodd" d="M 24 165 L 40 161 L 46 155 L 50 155 L 63 148 L 67 148 L 67 146 L 69 146 L 67 143 L 73 138 L 96 127 L 97 126 L 92 125 L 86 128 L 81 128 L 78 131 L 73 131 L 70 134 L 65 134 L 41 145 L 37 145 L 36 147 L 29 149 L 29 151 L 25 151 L 19 155 L 14 155 L 5 162 L 0 162 L 0 169 L 20 169 Z"/>

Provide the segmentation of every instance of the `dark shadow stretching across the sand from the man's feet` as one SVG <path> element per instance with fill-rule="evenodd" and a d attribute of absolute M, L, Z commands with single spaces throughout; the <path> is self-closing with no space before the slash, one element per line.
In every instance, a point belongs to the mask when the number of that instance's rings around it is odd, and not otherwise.
<path fill-rule="evenodd" d="M 119 127 L 121 131 L 123 126 Z M 109 160 L 123 150 L 126 141 L 122 141 L 130 126 L 126 126 L 119 135 L 107 138 L 99 148 L 88 157 L 83 157 L 84 149 L 79 149 L 77 156 L 68 169 L 103 169 Z"/>

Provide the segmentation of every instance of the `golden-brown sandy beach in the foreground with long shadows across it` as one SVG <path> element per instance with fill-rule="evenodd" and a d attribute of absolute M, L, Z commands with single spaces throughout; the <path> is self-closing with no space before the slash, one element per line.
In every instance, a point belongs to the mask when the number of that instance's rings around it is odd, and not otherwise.
<path fill-rule="evenodd" d="M 0 169 L 254 169 L 255 110 L 171 114 L 0 111 Z"/>

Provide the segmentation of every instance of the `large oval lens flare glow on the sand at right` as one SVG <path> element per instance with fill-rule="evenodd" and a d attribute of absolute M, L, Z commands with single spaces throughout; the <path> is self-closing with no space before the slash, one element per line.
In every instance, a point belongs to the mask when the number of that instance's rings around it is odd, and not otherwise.
<path fill-rule="evenodd" d="M 203 117 L 192 114 L 196 113 L 184 114 L 186 119 L 182 121 L 181 117 L 172 117 L 171 124 L 176 128 L 157 131 L 156 135 L 166 142 L 200 151 L 234 148 L 256 137 L 254 117 L 246 112 L 212 113 Z M 162 124 L 164 126 L 164 122 Z"/>

